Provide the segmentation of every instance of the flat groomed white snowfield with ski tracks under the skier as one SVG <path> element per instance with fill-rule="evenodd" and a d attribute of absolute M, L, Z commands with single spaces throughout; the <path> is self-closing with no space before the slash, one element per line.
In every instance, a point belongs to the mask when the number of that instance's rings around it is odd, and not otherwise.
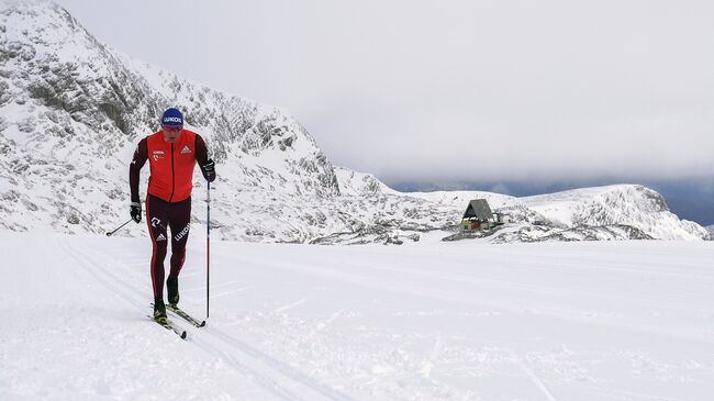
<path fill-rule="evenodd" d="M 203 316 L 194 229 L 181 303 Z M 146 238 L 0 233 L 0 399 L 705 400 L 714 243 L 215 242 L 150 322 Z M 180 322 L 179 322 L 180 323 Z"/>

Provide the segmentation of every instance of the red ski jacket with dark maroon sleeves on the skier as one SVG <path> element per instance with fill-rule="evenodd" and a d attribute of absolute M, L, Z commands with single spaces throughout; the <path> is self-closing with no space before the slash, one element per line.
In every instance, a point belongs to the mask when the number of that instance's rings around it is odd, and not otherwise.
<path fill-rule="evenodd" d="M 203 138 L 189 130 L 181 130 L 175 143 L 166 142 L 161 131 L 143 138 L 129 168 L 129 182 L 132 202 L 138 202 L 140 171 L 148 159 L 150 176 L 148 194 L 175 203 L 186 200 L 193 189 L 193 168 L 196 161 L 202 166 L 208 160 L 208 151 Z M 211 181 L 215 177 L 203 177 Z"/>

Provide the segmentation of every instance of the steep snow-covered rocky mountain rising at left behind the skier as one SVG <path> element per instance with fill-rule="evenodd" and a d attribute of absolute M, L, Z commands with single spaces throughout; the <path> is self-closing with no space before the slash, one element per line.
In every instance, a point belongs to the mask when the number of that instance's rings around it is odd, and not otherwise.
<path fill-rule="evenodd" d="M 387 187 L 344 169 L 342 197 L 335 167 L 283 110 L 132 60 L 52 2 L 3 2 L 0 25 L 0 226 L 101 233 L 124 221 L 135 144 L 175 105 L 217 163 L 212 225 L 219 237 L 389 240 L 399 201 L 372 199 Z M 199 177 L 194 198 L 204 189 Z M 425 201 L 409 209 L 427 221 L 434 212 Z M 408 226 L 433 230 L 447 221 Z M 194 222 L 204 222 L 200 210 Z M 130 233 L 144 235 L 143 229 Z"/>

